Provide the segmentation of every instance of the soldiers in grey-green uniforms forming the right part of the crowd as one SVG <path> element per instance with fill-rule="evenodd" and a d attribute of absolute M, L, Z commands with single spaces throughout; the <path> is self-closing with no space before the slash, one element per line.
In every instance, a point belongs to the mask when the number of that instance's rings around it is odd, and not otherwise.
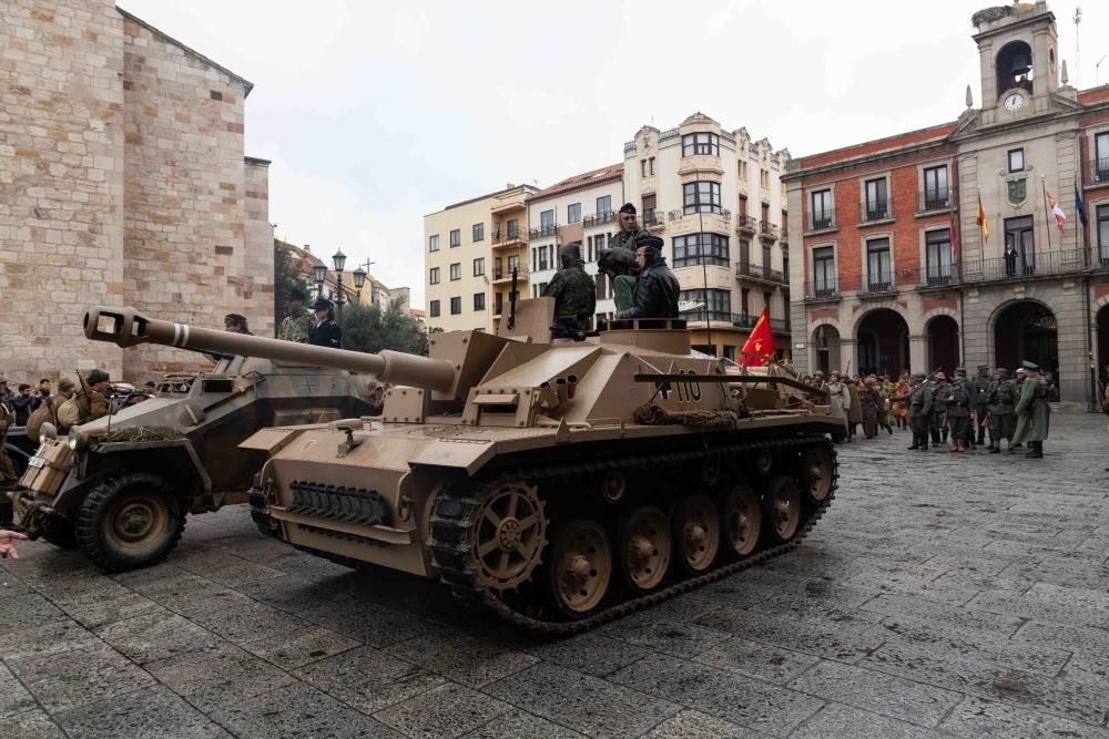
<path fill-rule="evenodd" d="M 983 445 L 988 434 L 991 454 L 1000 453 L 1004 440 L 1010 454 L 1026 444 L 1025 456 L 1044 456 L 1051 408 L 1047 380 L 1035 363 L 1021 362 L 1016 379 L 1009 379 L 1005 368 L 990 372 L 989 366 L 979 365 L 975 378 L 968 379 L 960 367 L 950 381 L 944 372 L 930 378 L 918 372 L 909 382 L 905 403 L 913 428 L 910 450 L 927 450 L 929 440 L 938 445 L 949 434 L 949 451 L 960 453 Z"/>

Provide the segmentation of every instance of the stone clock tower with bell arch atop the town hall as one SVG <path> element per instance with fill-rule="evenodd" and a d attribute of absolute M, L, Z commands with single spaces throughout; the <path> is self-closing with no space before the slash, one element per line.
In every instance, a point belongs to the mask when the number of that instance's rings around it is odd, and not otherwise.
<path fill-rule="evenodd" d="M 1047 113 L 1059 88 L 1059 35 L 1046 2 L 1015 2 L 978 11 L 981 124 Z"/>

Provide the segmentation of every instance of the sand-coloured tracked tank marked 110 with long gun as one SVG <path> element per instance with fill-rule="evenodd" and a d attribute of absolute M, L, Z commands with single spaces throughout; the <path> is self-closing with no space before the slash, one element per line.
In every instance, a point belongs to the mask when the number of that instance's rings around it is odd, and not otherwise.
<path fill-rule="evenodd" d="M 395 383 L 379 417 L 245 440 L 266 456 L 251 514 L 292 546 L 438 579 L 527 629 L 587 629 L 787 552 L 828 509 L 827 437 L 842 421 L 820 391 L 784 372 L 728 373 L 691 350 L 682 320 L 562 338 L 551 298 L 515 308 L 498 335 L 429 337 L 426 358 L 318 350 L 130 309 L 85 320 L 108 319 L 89 336 L 121 346 L 311 352 Z"/>

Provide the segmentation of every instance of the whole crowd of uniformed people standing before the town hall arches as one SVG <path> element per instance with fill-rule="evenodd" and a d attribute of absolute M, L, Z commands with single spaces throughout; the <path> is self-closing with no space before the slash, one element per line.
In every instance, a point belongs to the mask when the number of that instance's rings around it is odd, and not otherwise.
<path fill-rule="evenodd" d="M 897 425 L 912 430 L 909 450 L 949 444 L 953 453 L 983 448 L 999 454 L 1004 448 L 1014 454 L 1025 447 L 1025 456 L 1044 456 L 1051 414 L 1049 380 L 1029 361 L 1020 363 L 1014 379 L 1006 368 L 979 365 L 973 378 L 959 367 L 950 379 L 943 371 L 906 371 L 896 382 L 888 376 L 846 378 L 831 372 L 825 379 L 816 372 L 804 381 L 827 391 L 832 413 L 844 420 L 842 440 L 847 442 L 859 425 L 867 439 L 879 430 L 892 434 Z"/>

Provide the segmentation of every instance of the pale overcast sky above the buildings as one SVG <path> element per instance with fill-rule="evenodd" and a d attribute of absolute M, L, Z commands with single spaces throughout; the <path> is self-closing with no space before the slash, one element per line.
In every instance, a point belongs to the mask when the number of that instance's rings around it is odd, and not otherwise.
<path fill-rule="evenodd" d="M 694 111 L 794 156 L 952 121 L 978 92 L 987 2 L 120 0 L 254 82 L 246 153 L 269 219 L 424 304 L 423 216 L 506 183 L 620 162 Z M 1000 4 L 1000 3 L 998 3 Z M 1109 53 L 1109 2 L 1050 3 L 1071 84 Z M 1078 79 L 1076 79 L 1078 78 Z M 1109 59 L 1100 68 L 1109 81 Z"/>

